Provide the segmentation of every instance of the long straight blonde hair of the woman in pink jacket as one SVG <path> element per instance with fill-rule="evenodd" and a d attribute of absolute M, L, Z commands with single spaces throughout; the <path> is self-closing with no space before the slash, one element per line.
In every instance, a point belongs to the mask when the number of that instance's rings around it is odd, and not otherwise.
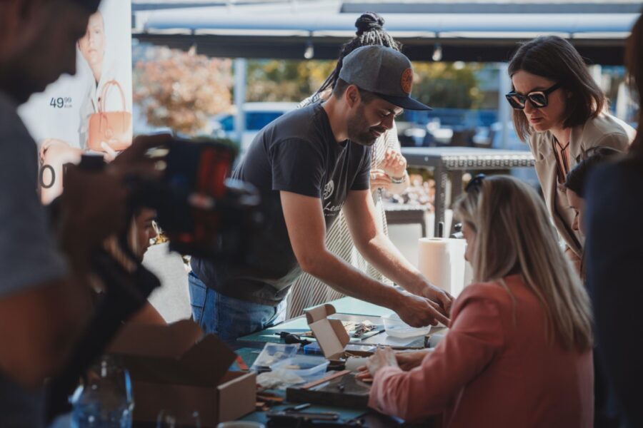
<path fill-rule="evenodd" d="M 454 210 L 476 232 L 470 260 L 474 280 L 504 285 L 507 275 L 521 275 L 544 307 L 552 342 L 558 340 L 567 350 L 591 348 L 589 296 L 558 245 L 536 191 L 509 176 L 488 177 L 462 195 Z"/>

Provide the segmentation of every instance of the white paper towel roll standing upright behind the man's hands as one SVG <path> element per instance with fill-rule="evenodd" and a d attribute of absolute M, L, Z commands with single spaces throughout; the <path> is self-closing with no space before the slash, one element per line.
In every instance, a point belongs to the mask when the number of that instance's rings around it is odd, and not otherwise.
<path fill-rule="evenodd" d="M 464 239 L 420 238 L 418 268 L 434 285 L 457 297 L 465 285 L 466 248 Z"/>

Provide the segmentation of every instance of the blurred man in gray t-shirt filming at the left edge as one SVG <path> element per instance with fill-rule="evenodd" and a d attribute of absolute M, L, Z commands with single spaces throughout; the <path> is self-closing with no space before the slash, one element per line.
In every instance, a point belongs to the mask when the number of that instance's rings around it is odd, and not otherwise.
<path fill-rule="evenodd" d="M 37 149 L 16 113 L 75 73 L 76 40 L 98 0 L 0 1 L 0 426 L 43 424 L 41 384 L 60 369 L 89 317 L 89 255 L 124 227 L 125 166 L 69 168 L 56 235 L 37 193 Z M 135 153 L 136 151 L 141 153 Z"/>

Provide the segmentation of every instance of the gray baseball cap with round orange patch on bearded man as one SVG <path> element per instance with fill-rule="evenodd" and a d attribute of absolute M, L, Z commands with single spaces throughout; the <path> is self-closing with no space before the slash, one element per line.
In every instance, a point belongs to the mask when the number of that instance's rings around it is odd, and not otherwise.
<path fill-rule="evenodd" d="M 402 52 L 384 46 L 362 46 L 348 54 L 339 78 L 409 110 L 432 110 L 414 98 L 413 68 Z"/>

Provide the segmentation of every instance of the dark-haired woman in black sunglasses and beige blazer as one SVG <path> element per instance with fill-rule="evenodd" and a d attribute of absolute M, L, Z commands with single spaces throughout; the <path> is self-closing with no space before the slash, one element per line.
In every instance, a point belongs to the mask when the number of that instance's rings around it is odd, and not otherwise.
<path fill-rule="evenodd" d="M 634 129 L 607 113 L 607 99 L 572 44 L 544 36 L 523 44 L 511 62 L 514 128 L 536 159 L 536 173 L 565 253 L 580 267 L 582 236 L 572 228 L 564 182 L 582 153 L 597 146 L 627 150 Z"/>

